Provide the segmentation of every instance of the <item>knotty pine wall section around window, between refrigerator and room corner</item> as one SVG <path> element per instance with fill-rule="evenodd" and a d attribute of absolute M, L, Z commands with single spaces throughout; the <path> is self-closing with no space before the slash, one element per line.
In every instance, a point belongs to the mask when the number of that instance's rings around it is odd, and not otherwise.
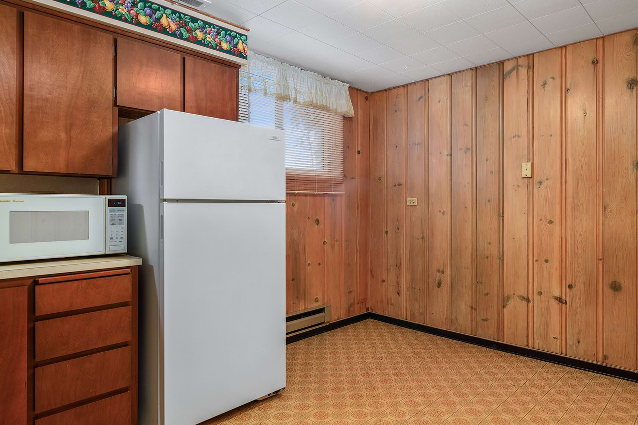
<path fill-rule="evenodd" d="M 351 89 L 355 116 L 344 119 L 345 190 L 286 195 L 286 312 L 321 304 L 332 320 L 367 310 L 370 191 L 368 94 Z"/>

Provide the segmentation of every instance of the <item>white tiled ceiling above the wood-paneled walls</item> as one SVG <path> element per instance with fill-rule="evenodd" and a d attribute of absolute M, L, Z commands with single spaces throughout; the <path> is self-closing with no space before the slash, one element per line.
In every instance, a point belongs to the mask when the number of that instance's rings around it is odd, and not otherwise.
<path fill-rule="evenodd" d="M 212 0 L 251 50 L 367 91 L 638 27 L 638 0 Z"/>

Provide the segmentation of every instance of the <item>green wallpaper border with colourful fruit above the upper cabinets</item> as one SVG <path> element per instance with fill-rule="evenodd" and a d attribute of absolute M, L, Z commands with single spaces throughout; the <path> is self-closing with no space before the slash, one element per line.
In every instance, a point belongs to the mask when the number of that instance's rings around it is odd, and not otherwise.
<path fill-rule="evenodd" d="M 212 22 L 171 10 L 152 1 L 134 0 L 54 0 L 88 10 L 103 17 L 121 20 L 154 33 L 175 36 L 220 53 L 246 59 L 248 36 Z"/>

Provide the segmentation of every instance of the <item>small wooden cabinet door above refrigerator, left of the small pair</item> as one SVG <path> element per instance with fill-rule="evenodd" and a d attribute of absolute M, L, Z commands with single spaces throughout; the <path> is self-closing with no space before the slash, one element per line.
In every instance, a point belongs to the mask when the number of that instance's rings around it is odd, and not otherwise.
<path fill-rule="evenodd" d="M 182 109 L 181 56 L 117 39 L 117 105 L 145 110 Z"/>

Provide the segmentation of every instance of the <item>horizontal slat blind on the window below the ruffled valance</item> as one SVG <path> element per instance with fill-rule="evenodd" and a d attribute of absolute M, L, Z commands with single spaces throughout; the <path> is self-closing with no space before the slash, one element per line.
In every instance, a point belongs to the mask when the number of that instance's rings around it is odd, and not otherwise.
<path fill-rule="evenodd" d="M 272 75 L 258 77 L 263 84 L 274 81 Z M 343 193 L 343 117 L 265 96 L 265 90 L 255 89 L 255 79 L 249 90 L 245 68 L 239 80 L 239 121 L 286 133 L 286 191 Z"/>

